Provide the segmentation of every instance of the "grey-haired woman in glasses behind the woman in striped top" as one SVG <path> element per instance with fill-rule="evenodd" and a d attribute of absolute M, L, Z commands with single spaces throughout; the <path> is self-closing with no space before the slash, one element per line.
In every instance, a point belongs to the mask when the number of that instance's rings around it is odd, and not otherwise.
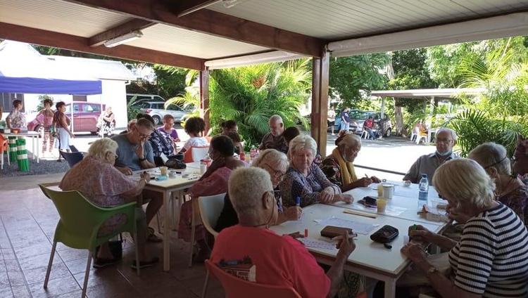
<path fill-rule="evenodd" d="M 512 175 L 506 148 L 496 143 L 484 143 L 471 150 L 467 157 L 478 162 L 495 182 L 496 200 L 510 207 L 524 224 L 528 224 L 528 186 Z M 464 222 L 464 219 L 458 219 L 457 215 L 451 214 L 457 221 Z"/>

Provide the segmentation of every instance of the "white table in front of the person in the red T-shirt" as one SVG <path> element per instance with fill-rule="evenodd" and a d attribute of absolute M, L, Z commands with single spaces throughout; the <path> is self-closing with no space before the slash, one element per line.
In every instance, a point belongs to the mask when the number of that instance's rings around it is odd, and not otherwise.
<path fill-rule="evenodd" d="M 385 283 L 385 297 L 394 297 L 396 292 L 396 280 L 405 273 L 410 261 L 401 254 L 401 247 L 404 245 L 404 235 L 407 235 L 408 227 L 415 224 L 409 219 L 398 219 L 391 216 L 378 215 L 376 219 L 365 216 L 358 216 L 344 213 L 341 207 L 332 205 L 316 204 L 303 209 L 301 221 L 287 221 L 279 226 L 272 226 L 270 229 L 279 234 L 289 234 L 294 232 L 303 233 L 308 228 L 308 237 L 320 238 L 320 231 L 324 226 L 316 223 L 315 219 L 327 219 L 335 216 L 341 219 L 360 221 L 368 224 L 379 225 L 368 235 L 358 235 L 356 238 L 356 250 L 352 252 L 346 263 L 347 271 L 355 272 L 369 278 L 382 280 Z M 369 236 L 384 225 L 398 228 L 400 234 L 391 242 L 392 249 L 389 250 L 384 245 L 373 242 Z M 438 232 L 442 228 L 438 223 L 420 223 L 430 231 Z M 337 249 L 325 250 L 307 247 L 318 262 L 322 264 L 333 264 Z M 315 282 L 315 280 L 314 280 Z"/>

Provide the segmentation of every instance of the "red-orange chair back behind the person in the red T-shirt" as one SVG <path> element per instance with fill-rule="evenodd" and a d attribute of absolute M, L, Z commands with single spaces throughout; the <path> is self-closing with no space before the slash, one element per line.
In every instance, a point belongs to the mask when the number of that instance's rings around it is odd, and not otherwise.
<path fill-rule="evenodd" d="M 227 298 L 301 298 L 293 287 L 282 287 L 279 285 L 261 285 L 252 283 L 241 278 L 232 276 L 230 273 L 223 271 L 220 267 L 206 261 L 206 267 L 210 274 L 215 276 L 225 290 Z"/>

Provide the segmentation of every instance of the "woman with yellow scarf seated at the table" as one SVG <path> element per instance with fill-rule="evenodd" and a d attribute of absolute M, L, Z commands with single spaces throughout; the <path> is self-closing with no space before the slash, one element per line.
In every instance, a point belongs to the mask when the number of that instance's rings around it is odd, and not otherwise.
<path fill-rule="evenodd" d="M 361 138 L 356 134 L 342 134 L 337 140 L 337 148 L 320 165 L 328 180 L 341 188 L 341 191 L 379 183 L 376 176 L 358 179 L 353 162 L 361 150 Z"/>

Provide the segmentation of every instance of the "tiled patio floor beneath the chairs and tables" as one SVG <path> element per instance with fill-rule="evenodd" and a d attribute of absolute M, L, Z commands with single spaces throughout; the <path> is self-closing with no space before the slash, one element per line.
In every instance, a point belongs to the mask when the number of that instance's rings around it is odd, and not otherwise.
<path fill-rule="evenodd" d="M 1 190 L 0 186 L 0 298 L 80 297 L 87 250 L 59 244 L 48 288 L 43 287 L 57 220 L 53 203 L 39 189 Z M 120 264 L 92 268 L 88 297 L 199 297 L 205 268 L 203 264 L 188 268 L 188 243 L 177 240 L 175 233 L 171 236 L 170 272 L 163 272 L 160 263 L 136 276 L 130 268 L 134 247 L 127 240 Z M 149 244 L 149 249 L 163 257 L 161 244 Z M 224 297 L 215 280 L 207 297 Z"/>

